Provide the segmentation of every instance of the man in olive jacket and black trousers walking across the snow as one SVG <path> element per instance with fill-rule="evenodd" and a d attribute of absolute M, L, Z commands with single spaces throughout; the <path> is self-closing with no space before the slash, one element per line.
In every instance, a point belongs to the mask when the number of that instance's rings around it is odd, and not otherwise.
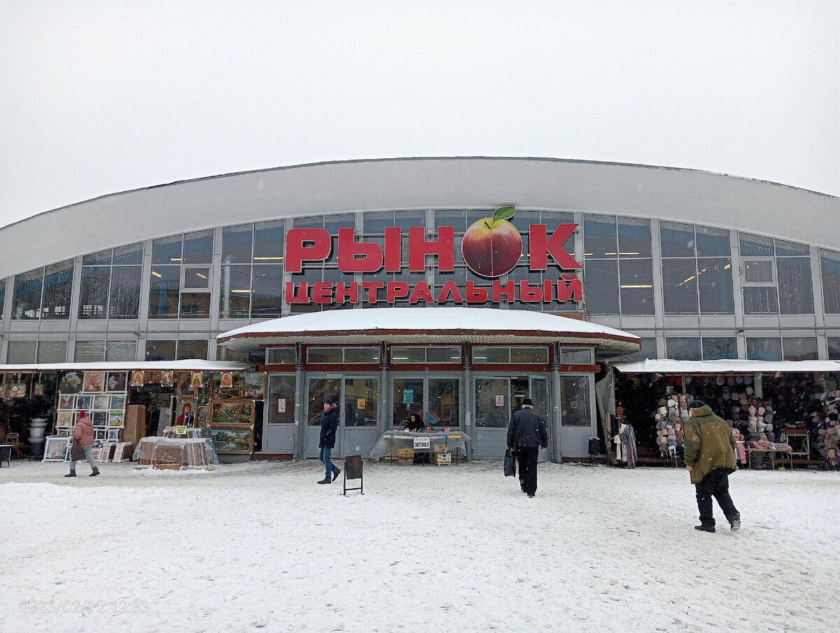
<path fill-rule="evenodd" d="M 726 422 L 711 413 L 701 400 L 690 404 L 691 417 L 683 425 L 685 469 L 691 473 L 695 485 L 700 525 L 695 530 L 715 531 L 711 515 L 711 498 L 717 499 L 732 530 L 741 527 L 741 514 L 729 496 L 729 473 L 735 472 L 735 439 Z"/>

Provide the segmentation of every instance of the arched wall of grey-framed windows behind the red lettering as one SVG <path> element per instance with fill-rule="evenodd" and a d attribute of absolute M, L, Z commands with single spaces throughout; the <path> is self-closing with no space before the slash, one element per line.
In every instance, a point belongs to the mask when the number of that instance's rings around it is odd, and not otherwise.
<path fill-rule="evenodd" d="M 475 300 L 470 306 L 574 312 L 641 336 L 643 351 L 623 360 L 661 354 L 691 360 L 837 356 L 840 321 L 831 319 L 840 315 L 838 251 L 701 224 L 517 208 L 511 221 L 522 236 L 522 256 L 496 280 L 503 289 L 512 282 L 517 293 L 502 293 L 496 303 L 490 298 L 494 280 L 470 270 L 461 252 L 470 224 L 492 213 L 492 208 L 378 209 L 232 224 L 108 248 L 21 272 L 0 280 L 5 360 L 234 360 L 242 355 L 218 350 L 212 341 L 242 322 L 323 309 L 467 305 L 463 295 L 468 283 L 475 296 L 481 290 L 488 294 L 484 303 Z M 573 272 L 559 268 L 551 257 L 548 270 L 530 270 L 532 224 L 548 224 L 549 231 L 559 224 L 578 224 L 563 247 L 583 265 L 574 271 L 583 281 L 581 302 L 571 297 L 560 302 L 554 290 L 546 300 L 523 300 L 520 284 L 542 289 L 560 274 Z M 425 257 L 422 272 L 408 270 L 408 232 L 417 226 L 428 227 L 429 242 L 438 239 L 440 227 L 454 227 L 453 271 L 439 271 L 437 256 Z M 339 270 L 339 229 L 354 229 L 356 240 L 384 246 L 386 229 L 395 227 L 402 235 L 401 272 L 386 272 L 384 267 L 377 272 Z M 302 272 L 286 272 L 286 231 L 292 228 L 326 229 L 332 236 L 329 256 L 304 262 Z M 314 284 L 324 282 L 333 293 L 328 302 L 312 296 Z M 365 282 L 381 283 L 383 288 L 391 283 L 397 292 L 386 297 L 383 290 L 375 303 L 361 289 Z M 300 295 L 285 296 L 287 284 L 301 293 L 304 283 L 308 302 L 300 301 Z M 354 284 L 360 298 L 355 290 L 351 293 Z M 428 287 L 428 293 L 417 293 L 418 286 Z M 444 293 L 444 287 L 458 291 Z M 685 318 L 694 319 L 694 332 L 686 330 L 684 322 L 669 320 Z M 702 323 L 706 318 L 727 320 L 707 328 Z M 161 319 L 170 323 L 160 324 Z M 235 325 L 228 323 L 234 320 Z M 22 329 L 26 321 L 41 322 L 37 334 Z M 125 321 L 130 323 L 119 325 Z M 85 328 L 76 328 L 76 322 L 85 322 Z M 64 346 L 46 342 L 62 332 Z M 476 358 L 477 352 L 486 360 Z M 459 363 L 461 353 L 457 347 L 407 346 L 391 362 Z M 363 356 L 341 362 L 379 362 Z M 545 361 L 532 356 L 486 346 L 473 349 L 472 361 Z"/>

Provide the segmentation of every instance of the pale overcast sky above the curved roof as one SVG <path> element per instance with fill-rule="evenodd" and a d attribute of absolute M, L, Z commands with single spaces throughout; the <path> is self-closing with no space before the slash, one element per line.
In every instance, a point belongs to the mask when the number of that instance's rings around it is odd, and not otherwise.
<path fill-rule="evenodd" d="M 547 156 L 840 195 L 840 0 L 0 0 L 0 224 L 313 161 Z"/>

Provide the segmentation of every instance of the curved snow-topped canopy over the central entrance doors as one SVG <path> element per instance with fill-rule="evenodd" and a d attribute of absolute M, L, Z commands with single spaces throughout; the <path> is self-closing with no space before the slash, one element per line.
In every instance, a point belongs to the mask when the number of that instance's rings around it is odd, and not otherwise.
<path fill-rule="evenodd" d="M 370 308 L 325 310 L 271 319 L 230 330 L 219 345 L 248 351 L 292 343 L 545 344 L 638 351 L 636 335 L 578 319 L 491 308 Z"/>

